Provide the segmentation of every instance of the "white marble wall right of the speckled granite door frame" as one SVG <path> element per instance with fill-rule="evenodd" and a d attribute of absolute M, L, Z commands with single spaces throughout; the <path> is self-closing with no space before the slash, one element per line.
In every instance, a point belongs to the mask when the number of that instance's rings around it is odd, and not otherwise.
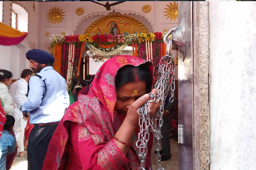
<path fill-rule="evenodd" d="M 210 170 L 255 169 L 255 9 L 209 2 Z"/>

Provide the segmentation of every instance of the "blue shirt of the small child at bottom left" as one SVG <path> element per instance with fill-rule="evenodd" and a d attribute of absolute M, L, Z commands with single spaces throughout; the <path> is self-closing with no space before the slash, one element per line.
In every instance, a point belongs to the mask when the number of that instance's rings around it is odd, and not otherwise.
<path fill-rule="evenodd" d="M 0 138 L 0 170 L 6 170 L 6 156 L 15 151 L 15 142 L 13 135 L 3 130 Z"/>

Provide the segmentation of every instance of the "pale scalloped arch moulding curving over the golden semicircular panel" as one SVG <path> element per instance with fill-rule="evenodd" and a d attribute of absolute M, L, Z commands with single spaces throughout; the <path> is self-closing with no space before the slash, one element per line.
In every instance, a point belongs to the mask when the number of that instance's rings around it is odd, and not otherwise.
<path fill-rule="evenodd" d="M 84 23 L 84 21 L 88 21 L 89 23 L 93 23 L 94 21 L 106 16 L 106 15 L 128 15 L 130 17 L 133 17 L 135 19 L 137 19 L 140 22 L 143 22 L 144 26 L 146 26 L 146 28 L 148 29 L 149 32 L 153 32 L 154 30 L 154 24 L 153 22 L 150 20 L 150 18 L 146 17 L 144 14 L 138 12 L 138 11 L 121 11 L 121 10 L 114 10 L 114 8 L 112 8 L 112 11 L 106 11 L 106 12 L 95 12 L 95 13 L 91 13 L 91 14 L 87 14 L 86 16 L 83 16 L 82 18 L 80 18 L 80 20 L 75 24 L 74 29 L 73 29 L 73 34 L 83 34 L 83 32 L 79 32 L 80 27 L 82 27 L 82 24 Z M 83 28 L 88 27 L 89 24 L 87 26 L 83 25 Z"/>

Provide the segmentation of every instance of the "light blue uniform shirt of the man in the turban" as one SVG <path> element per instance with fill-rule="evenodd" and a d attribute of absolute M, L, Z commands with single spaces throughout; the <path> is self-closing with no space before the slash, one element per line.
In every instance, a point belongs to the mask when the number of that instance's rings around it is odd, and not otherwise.
<path fill-rule="evenodd" d="M 21 111 L 29 113 L 30 124 L 59 122 L 69 106 L 66 80 L 52 66 L 43 68 L 37 74 L 42 79 L 30 77 L 28 100 L 22 105 Z M 46 83 L 46 94 L 43 80 Z"/>

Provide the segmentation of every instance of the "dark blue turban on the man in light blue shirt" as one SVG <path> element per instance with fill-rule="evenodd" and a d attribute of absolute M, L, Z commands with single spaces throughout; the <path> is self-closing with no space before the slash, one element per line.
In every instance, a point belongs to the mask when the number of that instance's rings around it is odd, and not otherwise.
<path fill-rule="evenodd" d="M 39 64 L 54 63 L 54 56 L 41 49 L 31 49 L 26 53 L 28 60 L 32 59 Z"/>

